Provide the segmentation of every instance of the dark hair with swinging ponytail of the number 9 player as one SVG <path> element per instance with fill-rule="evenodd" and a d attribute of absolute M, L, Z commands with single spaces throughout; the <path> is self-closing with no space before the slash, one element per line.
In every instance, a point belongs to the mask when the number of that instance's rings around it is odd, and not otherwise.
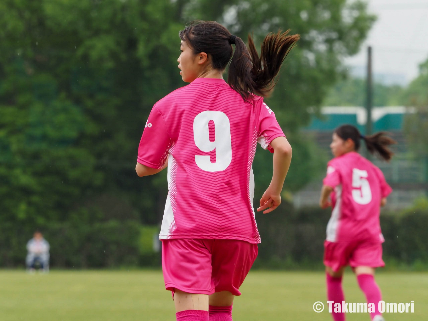
<path fill-rule="evenodd" d="M 288 32 L 266 36 L 260 56 L 250 35 L 247 48 L 241 38 L 215 21 L 193 21 L 179 35 L 193 48 L 193 53 L 205 52 L 211 57 L 214 69 L 223 71 L 230 61 L 227 82 L 247 100 L 251 94 L 266 97 L 275 86 L 282 62 L 300 38 L 288 36 Z M 235 44 L 235 53 L 232 44 Z"/>

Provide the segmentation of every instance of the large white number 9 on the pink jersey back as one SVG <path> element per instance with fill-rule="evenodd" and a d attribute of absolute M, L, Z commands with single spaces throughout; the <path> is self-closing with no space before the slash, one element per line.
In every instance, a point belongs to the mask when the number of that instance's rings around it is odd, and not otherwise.
<path fill-rule="evenodd" d="M 210 141 L 208 123 L 212 120 L 215 128 L 215 140 Z M 195 155 L 196 165 L 207 172 L 225 170 L 232 162 L 232 140 L 230 138 L 230 122 L 221 111 L 207 110 L 196 115 L 193 120 L 193 137 L 196 146 L 202 152 L 215 149 L 216 162 L 211 163 L 209 155 Z"/>

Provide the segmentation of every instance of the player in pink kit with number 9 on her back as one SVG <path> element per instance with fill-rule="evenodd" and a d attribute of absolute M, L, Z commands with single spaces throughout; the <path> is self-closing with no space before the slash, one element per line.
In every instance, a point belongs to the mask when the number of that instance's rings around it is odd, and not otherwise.
<path fill-rule="evenodd" d="M 160 239 L 177 320 L 232 320 L 233 299 L 260 243 L 253 209 L 257 143 L 273 152 L 272 181 L 257 211 L 281 203 L 291 162 L 290 144 L 263 96 L 299 36 L 266 36 L 261 56 L 250 36 L 247 48 L 214 21 L 194 21 L 179 36 L 178 68 L 190 84 L 153 107 L 136 171 L 145 176 L 168 167 Z"/>

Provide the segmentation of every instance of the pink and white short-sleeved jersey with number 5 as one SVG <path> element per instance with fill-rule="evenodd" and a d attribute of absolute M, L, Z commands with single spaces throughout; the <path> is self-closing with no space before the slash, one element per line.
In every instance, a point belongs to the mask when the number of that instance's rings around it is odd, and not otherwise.
<path fill-rule="evenodd" d="M 349 152 L 330 160 L 323 184 L 334 188 L 327 241 L 384 241 L 380 201 L 392 189 L 377 166 L 357 152 Z"/>

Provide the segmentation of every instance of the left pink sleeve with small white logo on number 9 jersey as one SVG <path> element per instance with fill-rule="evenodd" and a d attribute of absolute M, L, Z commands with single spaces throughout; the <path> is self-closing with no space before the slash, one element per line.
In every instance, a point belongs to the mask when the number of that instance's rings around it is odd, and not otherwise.
<path fill-rule="evenodd" d="M 155 105 L 150 112 L 141 136 L 137 162 L 152 168 L 163 168 L 168 158 L 170 146 L 165 121 Z"/>

